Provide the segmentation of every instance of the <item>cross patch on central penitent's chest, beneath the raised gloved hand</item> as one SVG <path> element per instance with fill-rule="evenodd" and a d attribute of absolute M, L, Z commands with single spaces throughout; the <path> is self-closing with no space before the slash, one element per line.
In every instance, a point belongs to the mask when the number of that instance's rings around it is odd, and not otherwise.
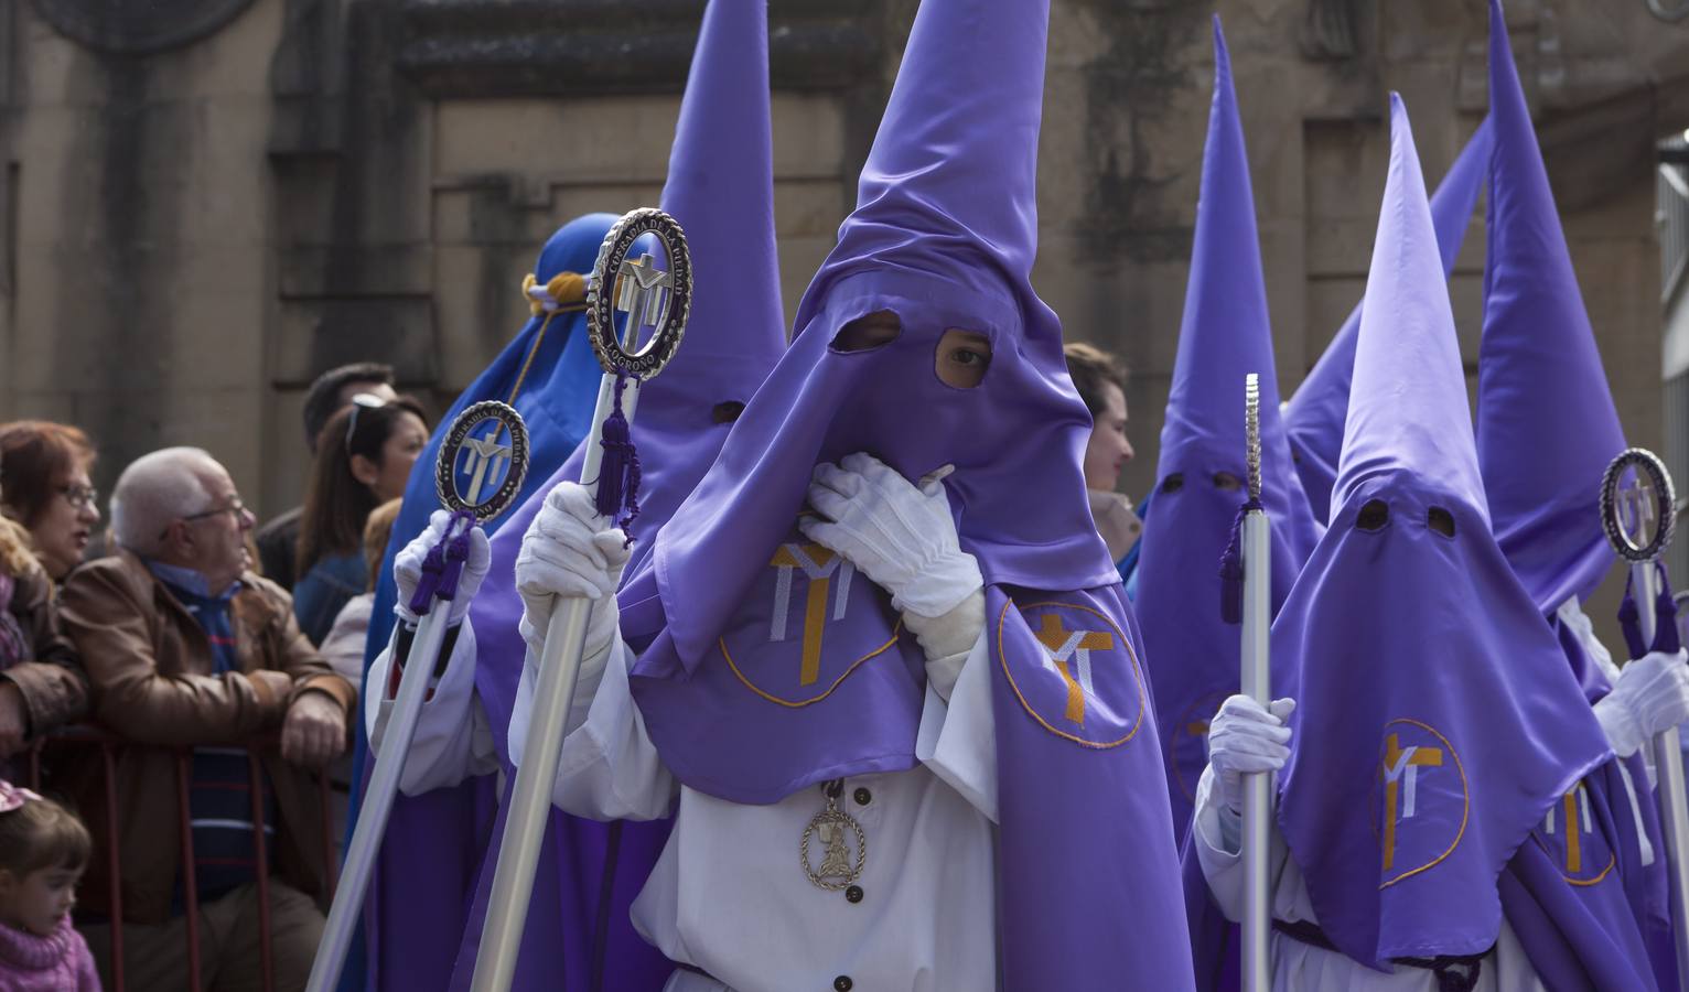
<path fill-rule="evenodd" d="M 880 586 L 794 527 L 775 546 L 718 647 L 755 695 L 782 706 L 809 706 L 863 666 L 907 669 L 904 654 L 893 651 L 900 627 Z M 900 684 L 919 688 L 924 674 L 919 669 L 910 678 L 905 671 Z"/>

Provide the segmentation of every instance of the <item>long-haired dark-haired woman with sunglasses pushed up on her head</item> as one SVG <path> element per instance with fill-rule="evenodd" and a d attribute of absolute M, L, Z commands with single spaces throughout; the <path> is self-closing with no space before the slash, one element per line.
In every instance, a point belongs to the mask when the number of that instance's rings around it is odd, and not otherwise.
<path fill-rule="evenodd" d="M 427 444 L 427 421 L 412 397 L 383 401 L 358 394 L 323 428 L 299 527 L 294 615 L 321 644 L 348 600 L 363 591 L 363 524 L 399 499 L 410 466 Z"/>

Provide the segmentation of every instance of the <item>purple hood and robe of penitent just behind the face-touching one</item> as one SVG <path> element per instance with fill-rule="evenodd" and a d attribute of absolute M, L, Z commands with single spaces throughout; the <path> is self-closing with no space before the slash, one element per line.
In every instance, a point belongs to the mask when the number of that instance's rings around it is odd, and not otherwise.
<path fill-rule="evenodd" d="M 627 581 L 649 563 L 662 524 L 714 461 L 736 411 L 785 348 L 774 240 L 774 155 L 768 115 L 768 19 L 763 0 L 713 0 L 692 57 L 662 208 L 686 230 L 692 311 L 686 340 L 662 375 L 644 384 L 633 419 L 642 463 L 640 515 Z M 470 608 L 478 639 L 476 693 L 508 769 L 507 732 L 525 646 L 515 556 L 546 493 L 578 480 L 588 438 L 493 536 L 493 566 Z M 644 568 L 649 573 L 649 568 Z M 660 613 L 638 613 L 630 642 L 649 639 Z M 453 987 L 473 973 L 503 815 L 464 931 Z M 660 989 L 674 970 L 644 941 L 628 906 L 669 835 L 667 821 L 595 823 L 552 811 L 517 967 L 519 989 Z M 561 945 L 561 946 L 559 946 Z"/>

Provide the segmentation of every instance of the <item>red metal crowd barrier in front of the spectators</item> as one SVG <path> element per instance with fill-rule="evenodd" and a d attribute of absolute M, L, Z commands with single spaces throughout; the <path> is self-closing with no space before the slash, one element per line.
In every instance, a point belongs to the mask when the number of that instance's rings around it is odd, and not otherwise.
<path fill-rule="evenodd" d="M 111 992 L 125 992 L 125 975 L 123 975 L 123 867 L 122 857 L 118 853 L 118 838 L 123 830 L 118 825 L 117 813 L 117 752 L 125 747 L 155 747 L 142 745 L 123 740 L 103 730 L 93 727 L 71 727 L 56 732 L 42 740 L 37 740 L 29 749 L 29 788 L 41 791 L 41 754 L 46 749 L 59 747 L 96 747 L 100 749 L 100 771 L 105 781 L 105 813 L 106 813 L 106 899 L 108 911 L 111 918 Z M 238 745 L 236 745 L 238 747 Z M 247 752 L 247 774 L 252 784 L 252 825 L 253 825 L 253 857 L 257 858 L 257 887 L 258 887 L 258 967 L 263 977 L 263 992 L 275 992 L 275 965 L 274 950 L 270 946 L 270 858 L 267 857 L 267 842 L 263 838 L 263 788 L 260 786 L 260 776 L 263 774 L 258 764 L 258 752 L 274 752 L 277 742 L 265 740 L 260 744 L 258 750 L 240 749 Z M 176 747 L 160 749 L 172 750 L 176 754 L 176 820 L 177 833 L 181 835 L 182 850 L 182 892 L 186 894 L 186 923 L 187 923 L 187 990 L 201 992 L 199 985 L 199 887 L 194 879 L 194 830 L 193 815 L 189 811 L 189 788 L 193 782 L 193 749 Z M 323 875 L 328 880 L 328 897 L 334 897 L 334 882 L 339 860 L 336 857 L 338 847 L 334 843 L 334 821 L 329 796 L 329 776 L 328 769 L 316 772 L 318 781 L 318 806 L 321 808 L 321 830 L 323 830 Z"/>

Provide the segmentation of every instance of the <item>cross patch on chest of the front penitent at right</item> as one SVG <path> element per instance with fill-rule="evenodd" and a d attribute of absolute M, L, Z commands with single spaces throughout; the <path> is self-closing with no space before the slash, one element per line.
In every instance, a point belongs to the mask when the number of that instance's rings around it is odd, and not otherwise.
<path fill-rule="evenodd" d="M 1373 776 L 1380 889 L 1442 864 L 1466 835 L 1471 794 L 1449 739 L 1419 720 L 1390 720 Z"/>

